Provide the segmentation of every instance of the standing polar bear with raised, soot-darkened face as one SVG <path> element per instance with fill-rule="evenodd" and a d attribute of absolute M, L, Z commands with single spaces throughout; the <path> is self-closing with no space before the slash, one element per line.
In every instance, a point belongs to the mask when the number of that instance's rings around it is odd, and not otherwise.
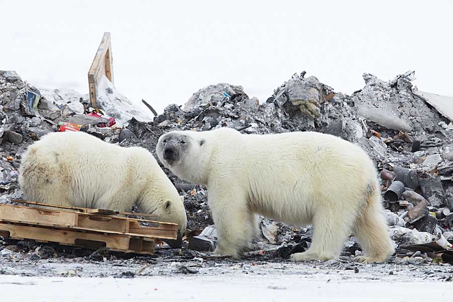
<path fill-rule="evenodd" d="M 292 260 L 338 257 L 351 231 L 364 250 L 358 261 L 382 262 L 394 252 L 376 169 L 360 147 L 339 137 L 171 131 L 159 138 L 157 155 L 177 176 L 207 186 L 216 254 L 237 258 L 249 248 L 256 214 L 313 224 L 311 247 Z"/>

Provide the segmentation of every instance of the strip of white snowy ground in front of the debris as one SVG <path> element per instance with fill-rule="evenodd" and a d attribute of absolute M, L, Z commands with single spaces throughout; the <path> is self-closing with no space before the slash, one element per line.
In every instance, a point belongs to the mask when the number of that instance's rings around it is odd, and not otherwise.
<path fill-rule="evenodd" d="M 408 271 L 385 278 L 375 271 L 323 271 L 298 265 L 286 272 L 271 268 L 272 276 L 236 270 L 224 274 L 137 276 L 124 278 L 0 276 L 3 299 L 13 301 L 447 301 L 452 283 L 408 278 Z M 412 275 L 413 273 L 410 273 Z M 409 282 L 410 281 L 410 282 Z"/>

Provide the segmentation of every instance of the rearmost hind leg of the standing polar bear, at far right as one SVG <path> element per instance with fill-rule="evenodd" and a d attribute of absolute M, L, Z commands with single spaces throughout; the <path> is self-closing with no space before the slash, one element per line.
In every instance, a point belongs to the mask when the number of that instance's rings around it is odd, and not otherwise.
<path fill-rule="evenodd" d="M 378 181 L 369 186 L 365 208 L 356 219 L 354 235 L 364 251 L 359 261 L 383 262 L 395 252 L 382 215 L 383 206 Z"/>

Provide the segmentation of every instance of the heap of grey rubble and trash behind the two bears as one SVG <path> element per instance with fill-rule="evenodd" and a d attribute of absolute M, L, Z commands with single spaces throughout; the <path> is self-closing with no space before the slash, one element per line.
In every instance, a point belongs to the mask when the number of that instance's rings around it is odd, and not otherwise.
<path fill-rule="evenodd" d="M 241 86 L 220 83 L 194 93 L 183 109 L 168 105 L 153 121 L 132 117 L 121 128 L 100 128 L 96 126 L 98 118 L 90 119 L 80 112 L 80 104 L 58 106 L 43 97 L 37 114 L 27 112 L 23 81 L 14 71 L 0 71 L 0 203 L 22 197 L 17 184 L 20 155 L 33 141 L 55 131 L 58 121 L 83 123 L 87 125 L 85 131 L 105 141 L 142 146 L 153 154 L 159 136 L 177 129 L 204 131 L 231 127 L 254 134 L 319 131 L 360 145 L 376 162 L 382 179 L 384 214 L 397 248 L 396 258 L 391 262 L 453 263 L 453 256 L 449 256 L 453 255 L 451 245 L 447 244 L 453 243 L 453 213 L 450 213 L 453 212 L 453 131 L 448 128 L 451 121 L 416 93 L 411 83 L 413 71 L 387 82 L 370 73 L 364 73 L 363 79 L 362 89 L 345 95 L 314 76 L 306 77 L 304 71 L 293 74 L 261 103 L 250 98 Z M 32 86 L 29 89 L 35 90 Z M 157 254 L 186 259 L 207 257 L 187 249 L 191 237 L 213 224 L 207 189 L 180 180 L 162 168 L 184 195 L 188 230 L 182 250 L 172 252 L 162 247 Z M 310 226 L 288 226 L 264 218 L 260 230 L 263 236 L 254 243 L 255 251 L 247 257 L 288 258 L 291 253 L 307 249 L 313 233 Z M 0 256 L 19 257 L 12 250 L 19 244 L 7 249 L 7 241 L 3 241 Z M 25 251 L 35 253 L 34 257 L 46 257 L 36 247 L 19 250 L 22 255 Z M 75 250 L 66 247 L 64 253 L 79 253 L 78 257 L 85 257 L 85 261 L 113 257 L 112 254 L 88 257 L 86 252 Z M 268 252 L 258 256 L 263 250 Z M 342 257 L 350 260 L 360 253 L 351 236 Z"/>

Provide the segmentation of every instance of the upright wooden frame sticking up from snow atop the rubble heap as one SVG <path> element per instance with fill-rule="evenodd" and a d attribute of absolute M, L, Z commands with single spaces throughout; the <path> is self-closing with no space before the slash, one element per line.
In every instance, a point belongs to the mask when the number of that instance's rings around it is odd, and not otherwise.
<path fill-rule="evenodd" d="M 90 91 L 91 107 L 96 108 L 96 99 L 98 96 L 98 84 L 102 76 L 113 84 L 113 55 L 112 46 L 110 44 L 110 33 L 105 32 L 99 44 L 96 55 L 88 71 L 88 87 Z"/>

